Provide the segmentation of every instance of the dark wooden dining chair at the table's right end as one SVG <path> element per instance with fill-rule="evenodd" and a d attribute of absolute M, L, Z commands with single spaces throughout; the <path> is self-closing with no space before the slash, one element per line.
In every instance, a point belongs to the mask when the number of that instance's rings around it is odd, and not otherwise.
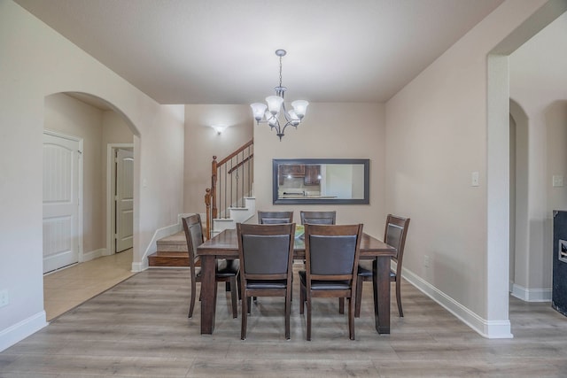
<path fill-rule="evenodd" d="M 396 282 L 396 302 L 398 303 L 398 313 L 403 318 L 404 312 L 401 309 L 401 263 L 404 258 L 404 247 L 406 236 L 408 235 L 409 218 L 401 218 L 396 215 L 388 214 L 384 229 L 384 242 L 396 249 L 392 260 L 396 262 L 396 271 L 390 272 L 390 282 Z M 372 265 L 375 261 L 361 260 L 358 266 L 358 291 L 356 293 L 356 318 L 361 316 L 362 301 L 362 282 L 372 281 Z"/>

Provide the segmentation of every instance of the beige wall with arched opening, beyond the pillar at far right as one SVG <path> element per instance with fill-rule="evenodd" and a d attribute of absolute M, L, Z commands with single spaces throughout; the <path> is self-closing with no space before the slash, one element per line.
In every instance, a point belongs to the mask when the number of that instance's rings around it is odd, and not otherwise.
<path fill-rule="evenodd" d="M 567 186 L 553 187 L 553 175 L 567 177 L 567 13 L 555 19 L 509 58 L 510 97 L 515 117 L 526 122 L 527 179 L 525 207 L 518 212 L 517 271 L 514 293 L 526 300 L 550 299 L 552 278 L 553 210 L 567 210 Z M 517 120 L 518 122 L 518 120 Z M 520 149 L 518 149 L 520 150 Z M 567 182 L 566 182 L 567 183 Z M 518 266 L 519 264 L 519 266 Z"/>

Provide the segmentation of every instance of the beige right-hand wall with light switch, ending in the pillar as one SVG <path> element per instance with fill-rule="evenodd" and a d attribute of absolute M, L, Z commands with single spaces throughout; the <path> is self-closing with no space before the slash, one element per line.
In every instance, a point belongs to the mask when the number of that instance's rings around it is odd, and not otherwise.
<path fill-rule="evenodd" d="M 509 336 L 509 250 L 498 250 L 500 244 L 487 236 L 488 220 L 501 212 L 494 216 L 497 209 L 487 206 L 487 180 L 506 167 L 501 181 L 491 181 L 498 188 L 491 198 L 507 209 L 501 188 L 508 187 L 509 150 L 508 142 L 501 144 L 505 164 L 488 166 L 493 97 L 487 57 L 544 3 L 506 1 L 385 105 L 386 211 L 412 219 L 406 275 L 486 336 Z M 507 77 L 496 79 L 491 85 L 508 85 Z M 503 123 L 508 125 L 508 114 Z M 508 126 L 504 133 L 509 135 Z M 479 173 L 478 187 L 471 186 L 473 172 Z M 507 225 L 508 217 L 501 221 Z M 500 239 L 508 246 L 508 233 Z M 494 249 L 498 256 L 488 254 Z M 494 264 L 501 260 L 503 265 Z"/>

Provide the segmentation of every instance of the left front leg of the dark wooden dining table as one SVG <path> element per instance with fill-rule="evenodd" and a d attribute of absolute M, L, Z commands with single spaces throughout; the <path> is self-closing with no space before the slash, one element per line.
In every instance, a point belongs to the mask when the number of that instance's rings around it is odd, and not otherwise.
<path fill-rule="evenodd" d="M 214 256 L 201 256 L 201 335 L 212 335 L 214 330 L 217 289 L 215 264 Z"/>

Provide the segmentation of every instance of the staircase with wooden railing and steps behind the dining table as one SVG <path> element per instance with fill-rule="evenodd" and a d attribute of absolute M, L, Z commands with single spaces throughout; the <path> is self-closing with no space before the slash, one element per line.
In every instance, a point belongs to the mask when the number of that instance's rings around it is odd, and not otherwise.
<path fill-rule="evenodd" d="M 206 239 L 225 229 L 237 228 L 256 213 L 253 192 L 253 142 L 235 150 L 227 158 L 217 162 L 213 157 L 211 188 L 206 189 L 206 220 L 203 234 Z M 220 209 L 220 211 L 219 211 Z M 161 238 L 156 243 L 156 252 L 148 256 L 150 267 L 189 266 L 187 242 L 183 227 L 181 232 Z"/>

